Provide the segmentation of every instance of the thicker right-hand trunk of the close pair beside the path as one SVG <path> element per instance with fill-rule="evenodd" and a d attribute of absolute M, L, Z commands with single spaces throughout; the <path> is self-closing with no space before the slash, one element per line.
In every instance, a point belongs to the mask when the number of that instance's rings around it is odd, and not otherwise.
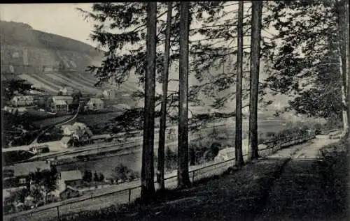
<path fill-rule="evenodd" d="M 262 1 L 252 1 L 251 18 L 251 79 L 249 100 L 249 158 L 259 157 L 258 153 L 258 91 L 260 68 L 260 38 Z"/>

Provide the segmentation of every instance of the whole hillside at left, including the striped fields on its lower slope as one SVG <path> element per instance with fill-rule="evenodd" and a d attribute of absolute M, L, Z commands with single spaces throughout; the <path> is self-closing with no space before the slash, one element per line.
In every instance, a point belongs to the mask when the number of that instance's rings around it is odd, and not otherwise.
<path fill-rule="evenodd" d="M 127 93 L 137 89 L 134 82 L 126 82 L 120 88 L 95 87 L 97 79 L 85 70 L 99 64 L 103 54 L 78 40 L 37 31 L 28 24 L 0 21 L 0 43 L 1 79 L 26 79 L 52 94 L 62 86 L 93 94 L 106 88 Z"/>

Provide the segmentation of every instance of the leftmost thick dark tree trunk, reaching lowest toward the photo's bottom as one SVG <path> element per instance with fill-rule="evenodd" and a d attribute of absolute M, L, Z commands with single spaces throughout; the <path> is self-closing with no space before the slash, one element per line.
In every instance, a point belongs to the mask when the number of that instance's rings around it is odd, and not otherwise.
<path fill-rule="evenodd" d="M 146 82 L 144 109 L 144 141 L 142 146 L 141 198 L 151 199 L 154 187 L 154 118 L 155 118 L 155 36 L 157 3 L 147 3 L 147 39 L 146 39 Z"/>

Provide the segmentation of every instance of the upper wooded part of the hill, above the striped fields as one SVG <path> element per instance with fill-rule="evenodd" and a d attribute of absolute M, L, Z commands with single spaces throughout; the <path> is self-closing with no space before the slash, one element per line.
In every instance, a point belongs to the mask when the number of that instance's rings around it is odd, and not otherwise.
<path fill-rule="evenodd" d="M 99 63 L 102 52 L 28 24 L 0 21 L 1 73 L 34 73 L 62 66 L 77 71 Z"/>

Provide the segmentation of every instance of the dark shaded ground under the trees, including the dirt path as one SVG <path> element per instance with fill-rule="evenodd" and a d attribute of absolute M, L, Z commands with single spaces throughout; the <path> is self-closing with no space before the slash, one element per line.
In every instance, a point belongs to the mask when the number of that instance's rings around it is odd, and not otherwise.
<path fill-rule="evenodd" d="M 337 140 L 317 136 L 232 174 L 188 190 L 169 190 L 153 204 L 88 211 L 62 220 L 342 220 L 332 214 L 340 211 L 336 206 L 328 207 L 330 195 L 323 197 L 331 192 L 330 176 L 317 163 L 320 148 L 332 142 Z"/>

